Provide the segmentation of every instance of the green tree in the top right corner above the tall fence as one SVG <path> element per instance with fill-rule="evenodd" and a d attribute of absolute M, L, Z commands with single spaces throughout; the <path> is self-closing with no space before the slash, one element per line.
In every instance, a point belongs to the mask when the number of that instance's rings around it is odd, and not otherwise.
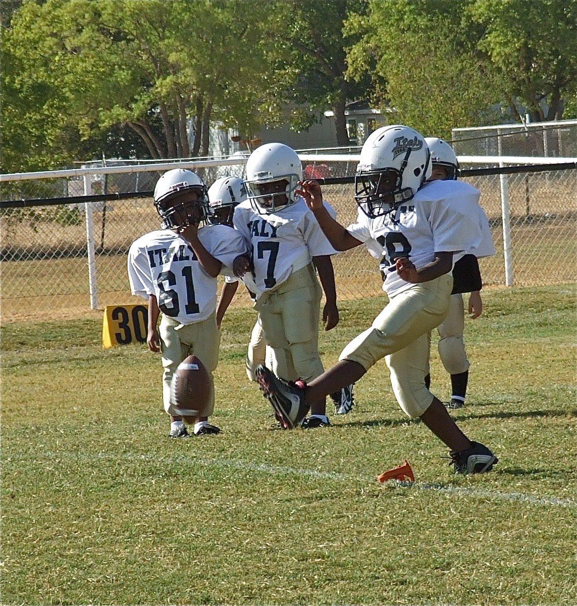
<path fill-rule="evenodd" d="M 577 0 L 476 0 L 470 14 L 515 115 L 561 119 L 577 95 Z"/>

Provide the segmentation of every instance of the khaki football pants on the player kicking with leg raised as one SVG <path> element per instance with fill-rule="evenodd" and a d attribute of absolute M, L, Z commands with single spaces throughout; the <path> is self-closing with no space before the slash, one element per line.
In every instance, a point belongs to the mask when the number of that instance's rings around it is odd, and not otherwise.
<path fill-rule="evenodd" d="M 385 358 L 399 406 L 410 418 L 422 415 L 433 402 L 425 387 L 429 368 L 429 332 L 447 316 L 453 276 L 415 284 L 398 295 L 341 353 L 369 370 Z"/>

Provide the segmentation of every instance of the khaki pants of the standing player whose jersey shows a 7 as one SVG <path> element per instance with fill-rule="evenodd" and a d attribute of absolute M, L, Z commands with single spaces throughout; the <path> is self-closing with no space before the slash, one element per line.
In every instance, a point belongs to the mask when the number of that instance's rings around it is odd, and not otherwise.
<path fill-rule="evenodd" d="M 310 263 L 256 302 L 271 350 L 270 369 L 281 379 L 310 381 L 324 371 L 318 347 L 321 291 Z"/>

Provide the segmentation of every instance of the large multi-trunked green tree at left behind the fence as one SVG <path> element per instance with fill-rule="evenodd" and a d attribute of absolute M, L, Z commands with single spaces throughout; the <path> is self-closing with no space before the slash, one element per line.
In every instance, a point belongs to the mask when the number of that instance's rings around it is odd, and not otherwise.
<path fill-rule="evenodd" d="M 25 1 L 2 39 L 10 65 L 2 122 L 12 125 L 3 166 L 62 165 L 111 137 L 119 148 L 126 128 L 152 158 L 205 155 L 211 121 L 255 129 L 276 85 L 253 18 L 264 8 L 258 0 Z"/>

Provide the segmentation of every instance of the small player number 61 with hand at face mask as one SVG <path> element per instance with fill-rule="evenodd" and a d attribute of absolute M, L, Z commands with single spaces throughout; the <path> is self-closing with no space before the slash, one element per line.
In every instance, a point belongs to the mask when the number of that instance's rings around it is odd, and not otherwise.
<path fill-rule="evenodd" d="M 162 229 L 137 239 L 128 251 L 128 278 L 133 295 L 148 299 L 148 348 L 161 351 L 162 399 L 170 415 L 170 437 L 219 433 L 208 423 L 215 403 L 213 371 L 220 335 L 216 327 L 216 276 L 232 274 L 234 259 L 245 252 L 238 231 L 205 225 L 210 216 L 208 193 L 190 170 L 175 168 L 161 176 L 154 191 Z M 160 325 L 158 318 L 162 313 Z M 188 355 L 198 356 L 210 377 L 207 402 L 181 410 L 170 399 L 170 383 Z M 188 414 L 187 414 L 188 413 Z"/>

